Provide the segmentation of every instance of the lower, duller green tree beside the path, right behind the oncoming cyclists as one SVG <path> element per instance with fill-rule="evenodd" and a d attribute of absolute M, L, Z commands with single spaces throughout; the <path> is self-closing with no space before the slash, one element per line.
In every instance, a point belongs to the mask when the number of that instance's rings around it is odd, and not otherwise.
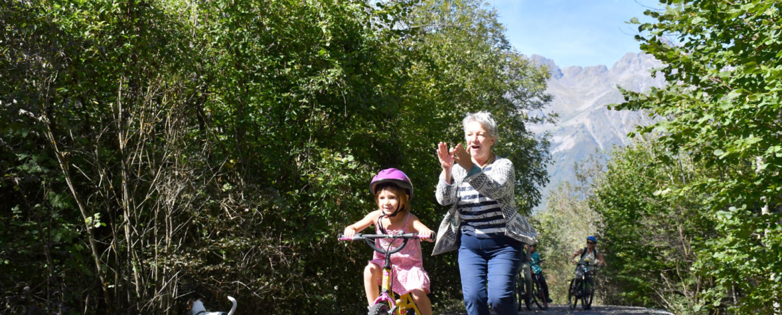
<path fill-rule="evenodd" d="M 615 150 L 589 197 L 602 218 L 601 249 L 608 264 L 601 295 L 609 304 L 705 313 L 701 294 L 713 281 L 691 270 L 703 258 L 705 242 L 716 237 L 715 222 L 705 211 L 705 196 L 674 193 L 672 187 L 708 178 L 708 172 L 655 140 L 637 137 L 630 147 Z"/>

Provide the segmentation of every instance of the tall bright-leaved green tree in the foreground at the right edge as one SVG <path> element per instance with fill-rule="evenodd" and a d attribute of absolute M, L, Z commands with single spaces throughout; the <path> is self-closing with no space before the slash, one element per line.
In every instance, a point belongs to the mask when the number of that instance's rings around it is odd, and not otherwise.
<path fill-rule="evenodd" d="M 739 313 L 773 313 L 782 300 L 780 225 L 780 2 L 661 1 L 641 49 L 665 63 L 668 81 L 648 93 L 624 91 L 616 109 L 662 119 L 666 150 L 702 163 L 708 176 L 670 186 L 703 196 L 717 237 L 698 248 L 694 270 L 716 281 L 705 302 Z M 637 20 L 633 19 L 634 23 Z M 673 41 L 667 38 L 673 37 Z M 663 157 L 660 162 L 673 164 Z"/>

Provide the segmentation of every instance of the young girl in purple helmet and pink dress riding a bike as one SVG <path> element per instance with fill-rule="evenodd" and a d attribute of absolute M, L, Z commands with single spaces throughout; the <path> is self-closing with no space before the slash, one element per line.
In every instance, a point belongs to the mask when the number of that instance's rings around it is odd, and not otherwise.
<path fill-rule="evenodd" d="M 416 232 L 432 242 L 435 233 L 410 213 L 409 201 L 413 197 L 413 184 L 404 172 L 396 168 L 384 169 L 375 175 L 369 188 L 375 195 L 378 210 L 372 211 L 361 221 L 345 228 L 346 237 L 353 237 L 369 225 L 375 225 L 377 234 Z M 393 245 L 398 246 L 397 242 L 401 244 L 402 240 L 396 239 Z M 375 244 L 386 248 L 389 242 L 387 239 L 378 239 Z M 379 285 L 385 258 L 383 254 L 375 252 L 372 260 L 364 268 L 364 291 L 367 293 L 370 306 L 380 294 Z M 391 263 L 392 274 L 395 276 L 392 280 L 393 291 L 399 295 L 410 292 L 418 310 L 423 315 L 431 315 L 432 303 L 426 296 L 429 293 L 429 274 L 424 271 L 421 260 L 421 242 L 418 239 L 408 241 L 404 249 L 391 254 Z"/>

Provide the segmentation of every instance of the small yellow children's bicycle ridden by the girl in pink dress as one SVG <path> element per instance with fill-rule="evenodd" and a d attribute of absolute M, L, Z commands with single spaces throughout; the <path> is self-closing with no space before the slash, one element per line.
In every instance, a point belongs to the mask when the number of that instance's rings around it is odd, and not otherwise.
<path fill-rule="evenodd" d="M 389 242 L 389 248 L 382 249 L 375 245 L 375 239 L 402 239 L 402 244 L 391 249 L 391 242 Z M 391 289 L 391 254 L 396 253 L 407 245 L 407 241 L 410 239 L 421 239 L 415 233 L 407 234 L 356 234 L 353 237 L 344 237 L 339 235 L 340 241 L 361 241 L 367 242 L 367 245 L 378 253 L 382 253 L 386 256 L 386 261 L 383 263 L 383 278 L 380 288 L 380 295 L 375 299 L 375 303 L 369 307 L 368 315 L 421 315 L 421 311 L 418 310 L 418 306 L 415 305 L 413 297 L 410 293 L 404 294 L 396 299 L 396 294 Z"/>

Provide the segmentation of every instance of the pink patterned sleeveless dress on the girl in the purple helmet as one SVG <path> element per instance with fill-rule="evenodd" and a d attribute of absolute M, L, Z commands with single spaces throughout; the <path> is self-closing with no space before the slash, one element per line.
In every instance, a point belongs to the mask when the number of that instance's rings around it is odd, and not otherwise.
<path fill-rule="evenodd" d="M 407 232 L 407 225 L 410 223 L 410 214 L 407 214 L 407 221 L 404 222 L 404 228 L 401 232 Z M 386 230 L 386 234 L 396 234 L 400 230 Z M 381 234 L 380 228 L 375 226 L 375 233 Z M 395 239 L 391 248 L 401 245 L 402 239 Z M 389 239 L 376 239 L 375 245 L 386 249 L 389 246 Z M 375 252 L 375 255 L 370 261 L 372 264 L 383 267 L 386 261 L 386 255 Z M 404 249 L 397 253 L 391 254 L 391 287 L 396 294 L 404 295 L 407 292 L 411 292 L 416 288 L 423 289 L 426 293 L 429 293 L 429 274 L 424 271 L 424 263 L 421 260 L 421 241 L 419 239 L 410 239 L 407 241 L 407 245 Z M 378 279 L 378 285 L 381 285 Z"/>

